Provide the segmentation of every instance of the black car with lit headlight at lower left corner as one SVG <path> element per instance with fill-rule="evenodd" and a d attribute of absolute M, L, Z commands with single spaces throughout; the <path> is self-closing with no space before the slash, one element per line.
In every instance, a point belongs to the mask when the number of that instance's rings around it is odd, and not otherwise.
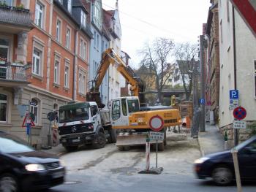
<path fill-rule="evenodd" d="M 37 191 L 64 183 L 65 169 L 55 155 L 36 151 L 0 131 L 0 191 Z"/>

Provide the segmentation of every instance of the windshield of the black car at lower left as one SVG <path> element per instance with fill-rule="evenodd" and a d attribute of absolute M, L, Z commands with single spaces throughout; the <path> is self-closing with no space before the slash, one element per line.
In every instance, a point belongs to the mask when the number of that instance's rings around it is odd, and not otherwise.
<path fill-rule="evenodd" d="M 18 139 L 12 135 L 4 134 L 0 135 L 0 151 L 2 153 L 23 153 L 34 151 L 34 149 L 21 139 Z"/>

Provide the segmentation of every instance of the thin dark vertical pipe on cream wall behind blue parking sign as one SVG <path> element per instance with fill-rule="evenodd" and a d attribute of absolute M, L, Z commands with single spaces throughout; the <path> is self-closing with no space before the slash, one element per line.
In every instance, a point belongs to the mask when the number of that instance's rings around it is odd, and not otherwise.
<path fill-rule="evenodd" d="M 236 82 L 236 23 L 235 23 L 235 8 L 232 6 L 232 18 L 233 18 L 233 52 L 234 52 L 234 88 L 237 89 Z M 238 145 L 238 129 L 234 128 L 234 144 Z"/>

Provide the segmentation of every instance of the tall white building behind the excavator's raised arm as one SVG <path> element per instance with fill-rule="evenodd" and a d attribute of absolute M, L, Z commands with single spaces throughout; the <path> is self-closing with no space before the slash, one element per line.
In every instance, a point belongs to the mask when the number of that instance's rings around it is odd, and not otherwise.
<path fill-rule="evenodd" d="M 110 48 L 121 55 L 121 24 L 118 13 L 118 1 L 116 1 L 115 10 L 103 9 L 103 18 L 105 26 L 110 33 Z M 109 67 L 109 96 L 108 99 L 113 99 L 121 95 L 120 76 L 121 74 L 116 69 L 116 64 Z"/>

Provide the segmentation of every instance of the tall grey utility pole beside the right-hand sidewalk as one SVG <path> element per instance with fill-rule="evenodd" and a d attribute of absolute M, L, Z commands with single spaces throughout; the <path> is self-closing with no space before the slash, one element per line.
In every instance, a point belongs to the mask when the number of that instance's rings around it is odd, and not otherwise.
<path fill-rule="evenodd" d="M 201 85 L 201 99 L 205 99 L 205 64 L 204 64 L 204 44 L 205 44 L 205 39 L 204 35 L 200 35 L 200 68 L 201 68 L 201 80 L 200 80 L 200 85 Z M 206 101 L 206 99 L 205 99 Z M 206 104 L 200 104 L 201 107 L 201 117 L 200 117 L 200 132 L 206 131 Z"/>

